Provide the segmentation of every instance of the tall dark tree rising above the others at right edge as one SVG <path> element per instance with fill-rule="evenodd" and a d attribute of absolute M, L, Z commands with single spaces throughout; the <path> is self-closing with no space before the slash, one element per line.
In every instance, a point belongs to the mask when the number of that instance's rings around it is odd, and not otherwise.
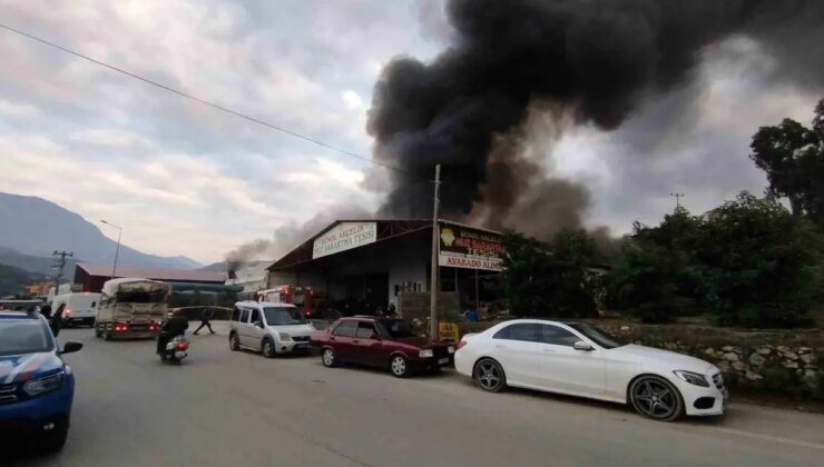
<path fill-rule="evenodd" d="M 784 119 L 762 127 L 751 149 L 749 158 L 767 173 L 769 195 L 786 197 L 795 215 L 824 219 L 824 99 L 815 108 L 812 129 Z"/>

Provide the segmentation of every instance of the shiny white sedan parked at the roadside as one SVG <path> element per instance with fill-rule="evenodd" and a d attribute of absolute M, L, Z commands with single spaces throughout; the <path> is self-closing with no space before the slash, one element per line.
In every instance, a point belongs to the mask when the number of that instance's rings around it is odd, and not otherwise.
<path fill-rule="evenodd" d="M 583 322 L 517 319 L 468 334 L 458 345 L 455 369 L 490 393 L 514 386 L 631 404 L 665 421 L 722 415 L 727 398 L 714 365 L 625 345 Z"/>

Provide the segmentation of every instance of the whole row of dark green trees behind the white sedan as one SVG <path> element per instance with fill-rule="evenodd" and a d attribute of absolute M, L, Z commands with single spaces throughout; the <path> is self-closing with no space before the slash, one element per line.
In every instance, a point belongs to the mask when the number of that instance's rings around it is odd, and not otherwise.
<path fill-rule="evenodd" d="M 824 302 L 824 100 L 812 128 L 785 119 L 753 137 L 764 196 L 742 191 L 703 213 L 676 208 L 635 222 L 617 251 L 581 229 L 549 242 L 504 235 L 504 296 L 517 316 L 587 318 L 598 310 L 646 322 L 712 312 L 718 324 L 797 327 Z M 782 198 L 789 205 L 787 209 Z"/>

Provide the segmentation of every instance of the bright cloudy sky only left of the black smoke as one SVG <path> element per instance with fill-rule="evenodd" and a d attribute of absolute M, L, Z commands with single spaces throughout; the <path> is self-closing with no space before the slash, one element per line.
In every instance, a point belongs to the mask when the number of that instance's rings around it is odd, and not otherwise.
<path fill-rule="evenodd" d="M 377 0 L 0 6 L 12 27 L 365 156 L 375 63 L 433 50 L 398 28 L 412 8 Z M 333 203 L 376 203 L 360 187 L 365 162 L 0 34 L 2 191 L 112 218 L 131 247 L 204 262 Z"/>

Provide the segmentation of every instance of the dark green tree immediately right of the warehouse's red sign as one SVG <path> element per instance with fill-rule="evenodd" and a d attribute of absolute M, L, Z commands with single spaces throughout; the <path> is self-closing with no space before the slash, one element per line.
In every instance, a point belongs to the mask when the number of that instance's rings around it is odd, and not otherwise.
<path fill-rule="evenodd" d="M 583 230 L 561 230 L 551 244 L 522 234 L 503 237 L 502 285 L 516 316 L 591 317 L 597 314 L 588 269 L 595 242 Z"/>

